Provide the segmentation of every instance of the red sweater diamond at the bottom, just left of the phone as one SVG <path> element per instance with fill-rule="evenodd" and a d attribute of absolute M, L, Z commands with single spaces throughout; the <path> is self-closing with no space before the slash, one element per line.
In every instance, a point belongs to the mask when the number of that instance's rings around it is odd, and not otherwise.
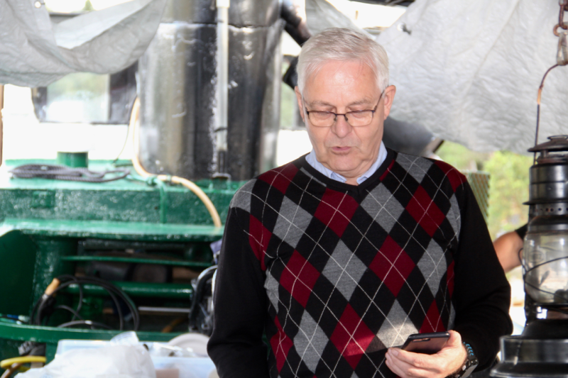
<path fill-rule="evenodd" d="M 342 353 L 349 365 L 355 369 L 374 337 L 375 334 L 368 329 L 365 322 L 348 304 L 329 340 Z"/>

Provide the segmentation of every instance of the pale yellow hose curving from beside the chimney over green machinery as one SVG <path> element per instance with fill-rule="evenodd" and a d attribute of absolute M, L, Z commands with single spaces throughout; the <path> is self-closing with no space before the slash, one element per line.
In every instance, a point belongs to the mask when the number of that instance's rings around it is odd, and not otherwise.
<path fill-rule="evenodd" d="M 133 154 L 132 154 L 132 165 L 134 166 L 134 170 L 136 170 L 136 173 L 138 173 L 139 175 L 141 175 L 142 177 L 151 177 L 151 176 L 156 176 L 158 177 L 159 180 L 162 180 L 164 182 L 168 182 L 168 179 L 175 183 L 175 184 L 182 184 L 184 187 L 186 187 L 187 189 L 190 189 L 190 191 L 192 191 L 205 205 L 205 207 L 207 208 L 207 211 L 209 211 L 209 214 L 211 215 L 211 218 L 213 219 L 213 224 L 215 227 L 221 227 L 221 218 L 219 217 L 219 213 L 217 212 L 217 209 L 215 209 L 215 206 L 213 204 L 213 202 L 211 201 L 211 199 L 209 199 L 209 197 L 207 196 L 207 194 L 204 193 L 204 191 L 202 191 L 202 189 L 200 187 L 198 187 L 196 184 L 194 184 L 193 182 L 191 182 L 188 179 L 184 179 L 183 177 L 178 177 L 178 176 L 168 176 L 166 174 L 151 174 L 148 171 L 146 171 L 146 169 L 144 169 L 144 167 L 142 167 L 142 165 L 140 164 L 140 160 L 138 160 L 138 116 L 140 114 L 140 99 L 138 99 L 138 97 L 136 97 L 136 101 L 134 101 L 134 105 L 132 107 L 132 112 L 130 115 L 130 123 L 129 123 L 129 130 L 133 130 L 132 131 L 132 139 L 133 139 L 133 146 L 134 146 L 134 150 L 133 150 Z"/>

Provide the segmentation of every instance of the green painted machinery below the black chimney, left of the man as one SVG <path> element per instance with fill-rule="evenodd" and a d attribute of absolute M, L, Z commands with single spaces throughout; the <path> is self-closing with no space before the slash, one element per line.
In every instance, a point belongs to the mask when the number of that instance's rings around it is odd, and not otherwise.
<path fill-rule="evenodd" d="M 223 233 L 222 227 L 213 226 L 195 194 L 185 187 L 143 179 L 133 169 L 126 179 L 104 183 L 10 177 L 9 169 L 32 163 L 55 164 L 21 160 L 8 161 L 1 167 L 1 314 L 31 316 L 34 304 L 54 277 L 92 274 L 101 267 L 129 277 L 111 282 L 129 294 L 137 306 L 180 308 L 180 313 L 190 308 L 194 292 L 191 279 L 212 265 L 209 244 Z M 111 168 L 111 162 L 89 162 L 92 170 Z M 224 220 L 229 202 L 243 182 L 202 180 L 196 184 Z M 133 271 L 138 277 L 133 277 Z M 162 275 L 166 278 L 155 282 L 153 272 L 165 272 Z M 152 277 L 144 279 L 145 274 Z M 112 317 L 104 290 L 87 285 L 82 291 L 82 315 Z M 79 297 L 79 288 L 71 285 L 58 293 L 57 299 L 73 307 Z M 187 312 L 184 316 L 187 318 Z M 45 326 L 3 318 L 0 358 L 16 357 L 18 346 L 31 340 L 45 343 L 50 360 L 58 340 L 109 340 L 119 332 L 56 327 L 70 318 L 71 313 L 57 311 Z M 159 311 L 158 315 L 142 315 L 139 338 L 165 341 L 187 331 L 187 323 L 181 323 L 171 327 L 173 333 L 160 333 L 171 321 Z"/>

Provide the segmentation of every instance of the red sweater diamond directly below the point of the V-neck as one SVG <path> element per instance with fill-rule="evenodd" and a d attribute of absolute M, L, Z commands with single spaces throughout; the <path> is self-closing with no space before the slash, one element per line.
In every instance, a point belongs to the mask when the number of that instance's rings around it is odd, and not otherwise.
<path fill-rule="evenodd" d="M 341 237 L 357 206 L 355 199 L 346 193 L 326 189 L 314 215 Z"/>

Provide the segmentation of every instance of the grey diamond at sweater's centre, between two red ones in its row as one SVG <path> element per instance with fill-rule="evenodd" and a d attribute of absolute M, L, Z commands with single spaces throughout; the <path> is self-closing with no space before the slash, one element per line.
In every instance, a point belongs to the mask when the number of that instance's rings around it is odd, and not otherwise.
<path fill-rule="evenodd" d="M 366 266 L 339 240 L 324 267 L 323 274 L 349 301 Z"/>

